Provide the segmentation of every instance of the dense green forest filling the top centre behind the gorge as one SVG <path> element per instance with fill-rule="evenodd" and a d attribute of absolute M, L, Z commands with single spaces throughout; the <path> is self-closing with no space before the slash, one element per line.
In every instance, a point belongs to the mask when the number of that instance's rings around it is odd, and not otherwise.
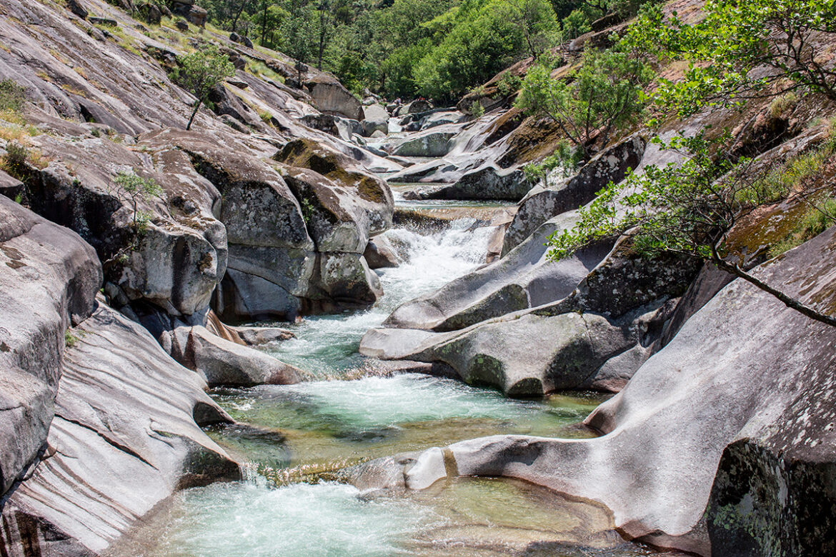
<path fill-rule="evenodd" d="M 201 0 L 217 26 L 390 99 L 457 99 L 640 0 Z"/>

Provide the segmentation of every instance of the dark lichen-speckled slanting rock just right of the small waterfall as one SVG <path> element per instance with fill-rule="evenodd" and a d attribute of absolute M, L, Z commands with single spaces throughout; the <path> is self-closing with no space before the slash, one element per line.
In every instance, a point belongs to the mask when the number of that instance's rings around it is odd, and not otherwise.
<path fill-rule="evenodd" d="M 629 170 L 638 167 L 644 153 L 645 140 L 634 136 L 597 154 L 571 178 L 530 190 L 520 201 L 505 233 L 502 255 L 528 238 L 546 220 L 586 205 L 609 182 L 617 184 L 624 180 Z"/>

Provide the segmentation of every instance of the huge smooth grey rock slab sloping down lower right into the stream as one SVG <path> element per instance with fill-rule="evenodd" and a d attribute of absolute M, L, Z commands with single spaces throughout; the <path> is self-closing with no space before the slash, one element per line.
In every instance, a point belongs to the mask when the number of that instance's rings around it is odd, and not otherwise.
<path fill-rule="evenodd" d="M 754 272 L 830 312 L 834 249 L 830 229 Z M 525 479 L 607 505 L 628 538 L 696 554 L 827 554 L 834 347 L 836 328 L 738 279 L 587 418 L 602 437 L 497 435 L 455 443 L 443 458 L 430 449 L 406 468 L 397 459 L 364 468 L 398 470 L 415 489 L 447 470 Z"/>

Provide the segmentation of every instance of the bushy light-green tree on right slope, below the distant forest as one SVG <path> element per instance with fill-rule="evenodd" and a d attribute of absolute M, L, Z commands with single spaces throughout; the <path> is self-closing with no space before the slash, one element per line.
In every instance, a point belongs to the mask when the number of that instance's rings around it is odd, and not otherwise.
<path fill-rule="evenodd" d="M 568 78 L 552 78 L 543 64 L 529 69 L 517 108 L 552 119 L 589 160 L 596 137 L 606 145 L 614 131 L 639 119 L 643 89 L 652 77 L 650 68 L 630 53 L 589 49 Z"/>

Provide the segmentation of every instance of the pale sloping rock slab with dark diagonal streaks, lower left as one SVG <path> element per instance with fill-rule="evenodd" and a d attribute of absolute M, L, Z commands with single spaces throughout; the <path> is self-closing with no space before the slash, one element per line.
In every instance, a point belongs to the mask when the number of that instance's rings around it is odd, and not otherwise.
<path fill-rule="evenodd" d="M 73 334 L 47 452 L 3 507 L 11 554 L 100 554 L 177 489 L 241 478 L 199 427 L 232 420 L 143 327 L 99 305 Z"/>

